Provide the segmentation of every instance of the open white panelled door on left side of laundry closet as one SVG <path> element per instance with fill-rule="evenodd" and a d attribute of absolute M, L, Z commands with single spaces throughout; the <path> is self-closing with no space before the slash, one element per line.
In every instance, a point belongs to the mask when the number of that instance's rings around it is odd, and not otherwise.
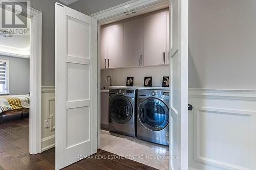
<path fill-rule="evenodd" d="M 55 169 L 97 152 L 97 21 L 55 4 Z"/>

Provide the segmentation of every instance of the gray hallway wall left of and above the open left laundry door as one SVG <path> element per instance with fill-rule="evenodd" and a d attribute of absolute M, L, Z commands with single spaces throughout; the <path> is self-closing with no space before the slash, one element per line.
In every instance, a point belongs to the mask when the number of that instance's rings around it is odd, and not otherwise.
<path fill-rule="evenodd" d="M 90 15 L 129 0 L 80 0 L 70 7 Z M 30 6 L 42 12 L 42 86 L 54 86 L 54 4 L 57 0 L 31 0 Z M 59 2 L 61 3 L 61 2 Z"/>

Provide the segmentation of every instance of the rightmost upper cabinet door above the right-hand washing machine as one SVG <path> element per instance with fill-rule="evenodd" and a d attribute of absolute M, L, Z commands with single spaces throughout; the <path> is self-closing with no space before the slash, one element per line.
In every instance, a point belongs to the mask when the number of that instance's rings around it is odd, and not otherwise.
<path fill-rule="evenodd" d="M 144 18 L 144 65 L 166 64 L 167 12 Z"/>

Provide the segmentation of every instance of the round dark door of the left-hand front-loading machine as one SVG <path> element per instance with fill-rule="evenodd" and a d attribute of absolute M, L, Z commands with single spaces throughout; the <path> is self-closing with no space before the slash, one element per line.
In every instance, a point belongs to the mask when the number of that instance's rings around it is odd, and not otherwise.
<path fill-rule="evenodd" d="M 117 95 L 110 103 L 110 115 L 119 124 L 125 124 L 133 115 L 130 101 L 122 95 Z"/>

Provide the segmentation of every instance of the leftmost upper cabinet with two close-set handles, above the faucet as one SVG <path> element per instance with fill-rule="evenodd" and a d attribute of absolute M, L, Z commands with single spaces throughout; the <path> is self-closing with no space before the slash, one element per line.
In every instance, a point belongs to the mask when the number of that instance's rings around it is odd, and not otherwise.
<path fill-rule="evenodd" d="M 101 68 L 124 66 L 123 23 L 103 26 L 100 32 Z"/>

